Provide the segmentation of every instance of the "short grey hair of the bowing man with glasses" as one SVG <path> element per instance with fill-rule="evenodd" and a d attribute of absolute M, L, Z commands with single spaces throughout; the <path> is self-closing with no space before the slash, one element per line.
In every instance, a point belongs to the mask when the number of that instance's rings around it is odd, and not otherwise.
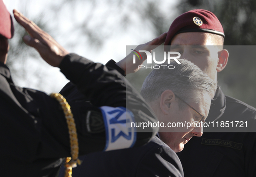
<path fill-rule="evenodd" d="M 214 80 L 191 61 L 185 59 L 178 59 L 178 61 L 181 64 L 176 61 L 172 61 L 170 64 L 167 62 L 158 64 L 166 66 L 154 69 L 146 77 L 140 93 L 148 103 L 157 100 L 165 90 L 172 90 L 187 103 L 190 101 L 198 103 L 204 93 L 208 93 L 211 98 L 214 97 L 217 87 Z M 175 68 L 169 69 L 173 68 L 168 68 L 169 65 Z M 179 108 L 183 109 L 185 104 L 180 100 L 178 103 Z"/>

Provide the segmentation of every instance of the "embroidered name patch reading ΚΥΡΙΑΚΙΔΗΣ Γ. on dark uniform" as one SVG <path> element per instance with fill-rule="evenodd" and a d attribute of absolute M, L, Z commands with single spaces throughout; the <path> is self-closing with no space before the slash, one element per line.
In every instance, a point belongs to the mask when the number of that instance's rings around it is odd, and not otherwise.
<path fill-rule="evenodd" d="M 226 140 L 221 140 L 221 139 L 206 139 L 203 138 L 202 145 L 218 145 L 218 146 L 225 146 L 229 148 L 234 148 L 241 150 L 243 144 L 242 143 L 237 143 L 237 142 L 231 142 L 231 141 L 226 141 Z"/>

